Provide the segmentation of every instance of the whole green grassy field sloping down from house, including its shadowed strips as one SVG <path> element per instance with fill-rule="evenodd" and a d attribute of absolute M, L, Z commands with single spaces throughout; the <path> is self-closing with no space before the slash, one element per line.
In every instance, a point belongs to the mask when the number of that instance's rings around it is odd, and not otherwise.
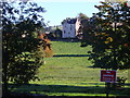
<path fill-rule="evenodd" d="M 53 58 L 44 58 L 46 64 L 37 74 L 40 81 L 30 82 L 13 90 L 49 96 L 105 96 L 105 85 L 100 82 L 100 70 L 88 61 L 87 51 L 80 42 L 52 41 Z M 128 71 L 117 71 L 119 76 L 128 76 Z M 110 96 L 130 95 L 129 87 L 113 90 Z"/>

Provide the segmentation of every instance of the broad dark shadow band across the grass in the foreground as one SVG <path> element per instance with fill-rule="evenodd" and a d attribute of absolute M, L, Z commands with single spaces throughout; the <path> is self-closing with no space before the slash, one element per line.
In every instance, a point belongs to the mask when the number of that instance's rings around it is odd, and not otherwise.
<path fill-rule="evenodd" d="M 18 91 L 20 94 L 26 93 L 26 94 L 31 94 L 35 93 L 35 95 L 39 94 L 46 94 L 46 93 L 72 93 L 72 94 L 105 94 L 105 87 L 100 87 L 100 86 L 68 86 L 68 85 L 38 85 L 38 84 L 28 84 L 28 85 L 22 85 L 22 86 L 16 86 L 16 85 L 10 85 L 12 88 L 12 91 L 16 93 Z M 123 88 L 123 90 L 115 90 L 112 91 L 110 94 L 115 96 L 122 96 L 127 95 L 130 96 L 130 88 Z M 39 95 L 41 96 L 41 95 Z M 47 96 L 47 95 L 42 95 Z M 126 96 L 126 97 L 127 97 Z"/>

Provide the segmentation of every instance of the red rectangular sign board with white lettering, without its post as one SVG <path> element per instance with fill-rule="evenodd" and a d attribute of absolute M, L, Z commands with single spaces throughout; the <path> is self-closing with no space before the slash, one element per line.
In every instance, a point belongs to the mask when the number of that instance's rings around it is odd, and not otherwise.
<path fill-rule="evenodd" d="M 101 82 L 116 82 L 116 71 L 101 70 Z"/>

